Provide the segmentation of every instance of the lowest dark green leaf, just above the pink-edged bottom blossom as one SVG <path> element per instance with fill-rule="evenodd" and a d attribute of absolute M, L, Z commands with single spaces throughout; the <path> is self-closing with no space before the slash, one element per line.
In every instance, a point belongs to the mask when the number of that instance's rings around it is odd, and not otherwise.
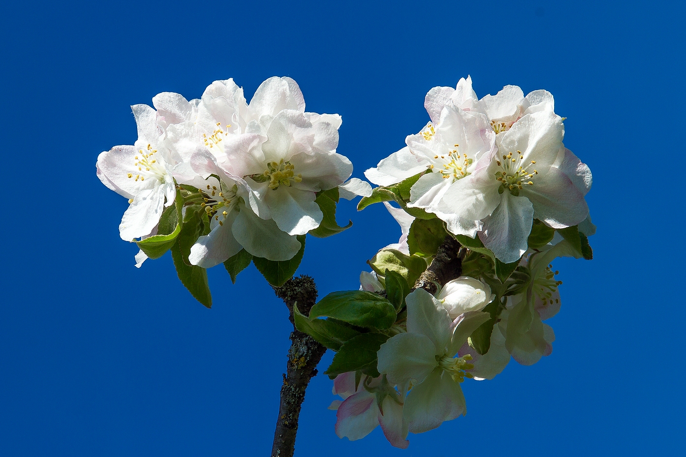
<path fill-rule="evenodd" d="M 368 376 L 379 376 L 377 352 L 386 340 L 388 336 L 381 333 L 361 333 L 351 338 L 333 356 L 331 365 L 324 374 L 335 376 L 359 370 Z"/>

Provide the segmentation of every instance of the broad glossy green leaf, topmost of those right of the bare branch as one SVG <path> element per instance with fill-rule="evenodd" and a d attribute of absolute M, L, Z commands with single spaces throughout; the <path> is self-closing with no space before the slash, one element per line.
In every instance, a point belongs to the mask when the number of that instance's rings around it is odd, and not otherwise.
<path fill-rule="evenodd" d="M 389 329 L 396 312 L 390 301 L 366 290 L 331 292 L 318 301 L 309 312 L 310 320 L 320 316 L 340 319 L 346 323 L 370 329 Z"/>

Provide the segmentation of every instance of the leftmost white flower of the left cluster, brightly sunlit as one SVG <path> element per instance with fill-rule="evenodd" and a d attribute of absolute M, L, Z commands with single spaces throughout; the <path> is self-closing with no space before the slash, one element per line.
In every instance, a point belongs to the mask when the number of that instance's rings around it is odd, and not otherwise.
<path fill-rule="evenodd" d="M 174 161 L 163 144 L 155 110 L 131 107 L 138 128 L 134 145 L 115 146 L 97 158 L 97 176 L 108 188 L 129 199 L 121 218 L 119 235 L 126 241 L 150 235 L 164 207 L 174 203 Z"/>

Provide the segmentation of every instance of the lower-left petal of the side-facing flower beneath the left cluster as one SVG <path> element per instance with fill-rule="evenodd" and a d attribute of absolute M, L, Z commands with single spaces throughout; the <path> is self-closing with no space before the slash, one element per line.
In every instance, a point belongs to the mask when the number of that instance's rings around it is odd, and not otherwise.
<path fill-rule="evenodd" d="M 196 244 L 191 246 L 188 260 L 193 265 L 211 268 L 239 253 L 243 246 L 237 242 L 231 231 L 231 226 L 237 215 L 236 211 L 230 211 L 226 218 L 218 215 L 222 224 L 219 223 L 219 220 L 212 218 L 210 224 L 212 231 L 208 235 L 199 237 Z"/>

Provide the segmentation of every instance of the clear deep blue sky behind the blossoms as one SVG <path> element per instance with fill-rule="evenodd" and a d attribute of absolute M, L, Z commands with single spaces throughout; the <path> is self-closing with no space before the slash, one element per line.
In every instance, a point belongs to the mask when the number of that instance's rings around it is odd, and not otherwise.
<path fill-rule="evenodd" d="M 319 375 L 296 455 L 683 455 L 684 13 L 659 1 L 3 3 L 0 454 L 270 452 L 287 310 L 254 267 L 236 285 L 210 270 L 212 309 L 169 255 L 134 268 L 117 230 L 126 200 L 95 176 L 99 152 L 135 140 L 131 104 L 226 78 L 251 95 L 287 75 L 308 110 L 342 115 L 339 152 L 362 177 L 425 124 L 432 86 L 471 74 L 480 96 L 551 91 L 565 144 L 593 171 L 595 259 L 555 264 L 554 353 L 465 382 L 466 417 L 404 452 L 379 430 L 336 437 Z M 344 202 L 339 218 L 355 225 L 308 238 L 299 270 L 320 296 L 357 288 L 399 236 L 381 205 Z"/>

